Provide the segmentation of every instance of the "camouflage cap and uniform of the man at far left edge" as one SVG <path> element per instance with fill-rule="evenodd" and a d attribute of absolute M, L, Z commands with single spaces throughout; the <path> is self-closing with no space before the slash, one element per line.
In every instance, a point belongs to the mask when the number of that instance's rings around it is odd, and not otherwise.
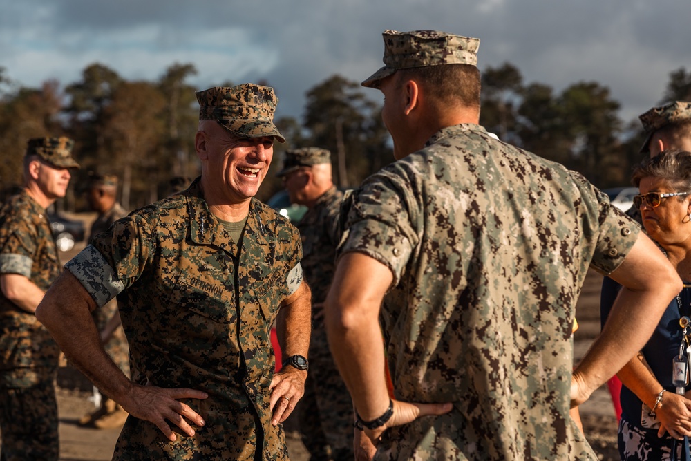
<path fill-rule="evenodd" d="M 27 155 L 58 167 L 79 167 L 68 138 L 33 138 Z M 46 210 L 26 189 L 0 209 L 0 274 L 26 276 L 41 290 L 61 272 Z M 0 292 L 0 460 L 57 460 L 59 348 L 34 314 Z"/>

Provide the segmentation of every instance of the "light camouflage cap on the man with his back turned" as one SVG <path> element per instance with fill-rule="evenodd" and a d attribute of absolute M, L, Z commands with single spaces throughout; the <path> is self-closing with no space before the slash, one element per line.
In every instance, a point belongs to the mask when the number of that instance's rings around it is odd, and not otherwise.
<path fill-rule="evenodd" d="M 362 82 L 362 86 L 377 88 L 379 80 L 396 70 L 441 66 L 442 64 L 477 65 L 480 39 L 447 34 L 437 30 L 397 32 L 386 30 L 384 36 L 384 67 Z"/>

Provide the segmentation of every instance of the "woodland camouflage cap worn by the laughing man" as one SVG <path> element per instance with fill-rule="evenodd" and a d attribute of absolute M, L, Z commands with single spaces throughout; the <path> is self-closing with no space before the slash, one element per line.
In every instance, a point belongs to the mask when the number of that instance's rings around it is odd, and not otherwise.
<path fill-rule="evenodd" d="M 199 120 L 216 120 L 240 138 L 274 136 L 285 142 L 273 122 L 278 104 L 274 88 L 246 83 L 232 88 L 214 86 L 195 94 Z"/>

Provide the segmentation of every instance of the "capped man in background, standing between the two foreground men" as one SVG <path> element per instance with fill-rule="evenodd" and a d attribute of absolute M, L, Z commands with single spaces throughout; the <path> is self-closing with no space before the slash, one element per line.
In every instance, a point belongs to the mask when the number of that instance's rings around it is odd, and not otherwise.
<path fill-rule="evenodd" d="M 311 460 L 352 460 L 352 401 L 329 350 L 323 310 L 334 276 L 343 193 L 334 186 L 327 149 L 286 151 L 283 169 L 276 176 L 283 179 L 290 202 L 307 207 L 296 224 L 303 244 L 304 276 L 312 288 L 310 373 L 299 403 L 302 441 Z"/>

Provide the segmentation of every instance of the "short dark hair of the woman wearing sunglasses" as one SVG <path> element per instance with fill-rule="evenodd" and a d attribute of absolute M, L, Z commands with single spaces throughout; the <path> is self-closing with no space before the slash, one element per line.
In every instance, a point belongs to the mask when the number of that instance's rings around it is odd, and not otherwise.
<path fill-rule="evenodd" d="M 638 187 L 643 178 L 663 179 L 677 192 L 691 192 L 691 152 L 663 151 L 643 160 L 634 168 L 632 181 Z M 678 199 L 683 201 L 685 197 Z"/>

